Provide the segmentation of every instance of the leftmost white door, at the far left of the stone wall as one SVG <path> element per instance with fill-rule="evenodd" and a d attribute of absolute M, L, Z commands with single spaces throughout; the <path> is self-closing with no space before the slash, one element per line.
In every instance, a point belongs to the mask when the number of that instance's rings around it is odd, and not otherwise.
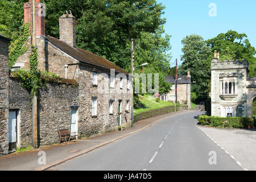
<path fill-rule="evenodd" d="M 16 111 L 9 111 L 9 143 L 17 142 L 17 115 Z"/>

